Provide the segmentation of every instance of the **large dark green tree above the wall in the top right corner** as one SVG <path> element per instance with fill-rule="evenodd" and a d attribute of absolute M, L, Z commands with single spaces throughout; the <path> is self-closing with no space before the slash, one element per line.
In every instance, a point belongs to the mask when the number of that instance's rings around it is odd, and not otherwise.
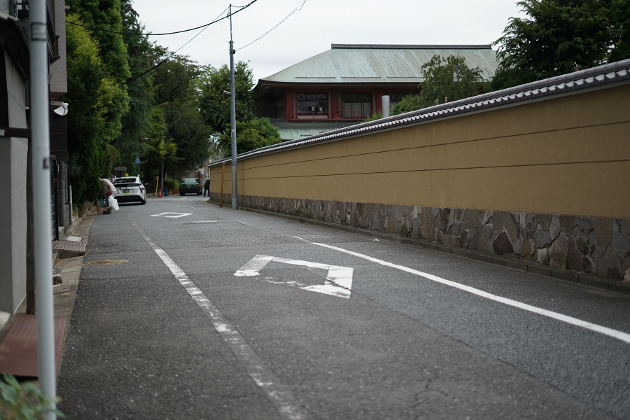
<path fill-rule="evenodd" d="M 522 0 L 492 87 L 500 89 L 630 57 L 630 0 Z"/>

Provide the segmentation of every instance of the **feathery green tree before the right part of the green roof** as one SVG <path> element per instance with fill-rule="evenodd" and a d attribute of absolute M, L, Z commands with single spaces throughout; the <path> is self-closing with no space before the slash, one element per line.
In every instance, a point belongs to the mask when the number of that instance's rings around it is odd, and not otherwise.
<path fill-rule="evenodd" d="M 434 55 L 422 66 L 421 73 L 424 81 L 420 94 L 402 98 L 394 106 L 392 115 L 475 96 L 483 88 L 482 71 L 478 67 L 469 69 L 461 56 L 450 55 L 444 59 Z"/>

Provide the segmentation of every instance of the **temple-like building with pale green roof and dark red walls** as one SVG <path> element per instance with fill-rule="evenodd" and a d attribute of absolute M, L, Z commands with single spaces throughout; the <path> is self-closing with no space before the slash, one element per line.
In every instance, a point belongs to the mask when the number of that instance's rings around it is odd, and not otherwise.
<path fill-rule="evenodd" d="M 283 140 L 294 140 L 387 114 L 405 95 L 420 92 L 422 66 L 435 55 L 464 57 L 486 79 L 498 66 L 490 45 L 332 44 L 258 80 L 258 116 L 269 118 Z"/>

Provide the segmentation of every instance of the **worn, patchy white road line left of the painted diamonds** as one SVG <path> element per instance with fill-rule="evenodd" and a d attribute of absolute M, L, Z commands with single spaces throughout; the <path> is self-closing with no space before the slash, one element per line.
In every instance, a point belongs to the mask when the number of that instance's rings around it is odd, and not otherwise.
<path fill-rule="evenodd" d="M 247 345 L 247 342 L 238 330 L 225 320 L 221 311 L 219 311 L 202 290 L 188 278 L 188 275 L 172 260 L 166 251 L 155 244 L 136 223 L 132 222 L 132 225 L 146 243 L 153 248 L 153 251 L 158 254 L 162 262 L 164 262 L 173 273 L 181 286 L 186 289 L 190 297 L 193 297 L 193 300 L 199 305 L 202 311 L 204 311 L 204 314 L 209 318 L 216 332 L 221 335 L 225 343 L 230 346 L 230 349 L 232 349 L 235 355 L 241 360 L 245 370 L 251 379 L 255 381 L 255 384 L 262 388 L 262 391 L 265 391 L 267 398 L 269 398 L 274 407 L 276 407 L 283 419 L 307 419 L 307 415 L 295 404 L 295 398 L 293 398 L 290 391 L 280 385 L 280 381 L 275 377 L 269 367 L 265 365 L 265 361 Z"/>

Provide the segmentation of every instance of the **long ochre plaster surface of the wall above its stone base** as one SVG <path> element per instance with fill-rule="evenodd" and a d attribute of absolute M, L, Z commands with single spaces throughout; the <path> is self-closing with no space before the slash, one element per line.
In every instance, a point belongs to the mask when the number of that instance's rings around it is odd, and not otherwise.
<path fill-rule="evenodd" d="M 629 109 L 626 84 L 244 159 L 238 193 L 630 218 Z"/>

